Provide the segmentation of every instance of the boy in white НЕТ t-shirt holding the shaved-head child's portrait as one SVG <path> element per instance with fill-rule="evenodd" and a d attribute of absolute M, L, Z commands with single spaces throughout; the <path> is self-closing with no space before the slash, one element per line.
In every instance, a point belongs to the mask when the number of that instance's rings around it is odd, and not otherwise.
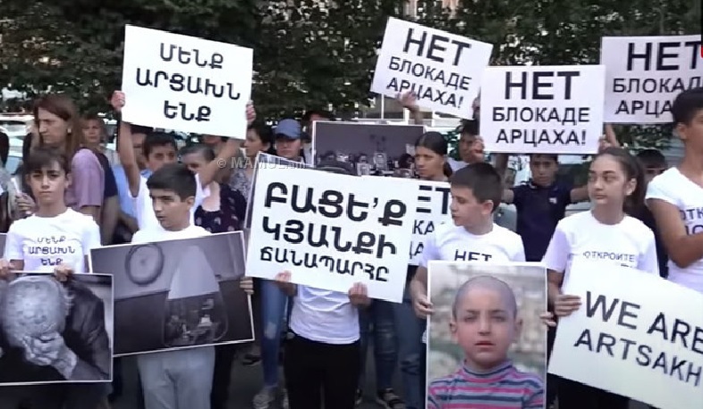
<path fill-rule="evenodd" d="M 471 163 L 449 178 L 453 225 L 442 224 L 428 236 L 419 257 L 418 271 L 411 280 L 415 313 L 432 314 L 428 301 L 428 263 L 432 260 L 478 263 L 524 262 L 525 250 L 517 234 L 493 221 L 503 197 L 503 181 L 490 163 Z M 423 342 L 427 341 L 427 331 Z M 422 363 L 425 363 L 424 360 Z M 425 373 L 420 371 L 419 373 Z M 426 380 L 419 388 L 425 391 Z M 423 399 L 424 401 L 424 399 Z"/>

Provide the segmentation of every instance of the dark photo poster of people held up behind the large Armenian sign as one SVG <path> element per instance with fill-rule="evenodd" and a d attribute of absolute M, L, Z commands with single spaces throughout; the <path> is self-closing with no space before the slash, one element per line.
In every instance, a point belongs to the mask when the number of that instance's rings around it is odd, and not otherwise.
<path fill-rule="evenodd" d="M 424 132 L 422 125 L 316 121 L 312 154 L 316 165 L 334 159 L 352 164 L 358 175 L 413 178 L 415 142 Z"/>

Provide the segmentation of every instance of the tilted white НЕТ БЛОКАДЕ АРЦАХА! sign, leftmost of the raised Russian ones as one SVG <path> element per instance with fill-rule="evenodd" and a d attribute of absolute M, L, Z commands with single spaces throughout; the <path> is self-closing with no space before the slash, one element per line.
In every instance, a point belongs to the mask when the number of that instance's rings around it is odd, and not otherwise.
<path fill-rule="evenodd" d="M 420 107 L 471 119 L 492 52 L 490 44 L 391 17 L 371 92 L 395 97 L 413 91 Z"/>

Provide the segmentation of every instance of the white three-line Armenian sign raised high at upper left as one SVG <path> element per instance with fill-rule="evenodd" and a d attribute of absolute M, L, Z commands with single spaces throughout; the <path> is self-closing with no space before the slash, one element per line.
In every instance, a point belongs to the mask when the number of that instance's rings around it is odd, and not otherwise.
<path fill-rule="evenodd" d="M 128 25 L 123 120 L 243 139 L 252 61 L 250 48 Z"/>

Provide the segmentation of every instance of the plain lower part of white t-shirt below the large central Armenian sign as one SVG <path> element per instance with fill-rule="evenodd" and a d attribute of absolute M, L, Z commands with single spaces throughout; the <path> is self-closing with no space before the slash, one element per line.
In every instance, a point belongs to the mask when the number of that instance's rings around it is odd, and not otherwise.
<path fill-rule="evenodd" d="M 311 341 L 348 345 L 359 340 L 359 310 L 338 291 L 297 286 L 291 330 Z"/>

